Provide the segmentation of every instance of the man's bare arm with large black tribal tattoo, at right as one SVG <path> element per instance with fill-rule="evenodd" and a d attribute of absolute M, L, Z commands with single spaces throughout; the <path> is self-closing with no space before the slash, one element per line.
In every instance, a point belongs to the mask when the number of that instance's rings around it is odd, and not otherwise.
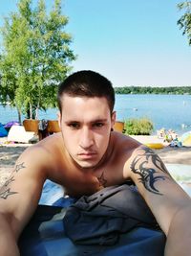
<path fill-rule="evenodd" d="M 191 198 L 169 175 L 159 156 L 140 146 L 133 151 L 125 170 L 166 234 L 165 255 L 190 255 Z"/>

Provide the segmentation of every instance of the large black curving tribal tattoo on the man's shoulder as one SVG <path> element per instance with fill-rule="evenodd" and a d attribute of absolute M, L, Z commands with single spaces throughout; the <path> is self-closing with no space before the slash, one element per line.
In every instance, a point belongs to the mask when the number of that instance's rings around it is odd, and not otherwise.
<path fill-rule="evenodd" d="M 162 195 L 156 188 L 156 182 L 169 178 L 169 173 L 160 160 L 159 155 L 154 151 L 146 147 L 142 147 L 139 150 L 140 153 L 135 157 L 131 164 L 132 172 L 139 175 L 138 180 L 143 184 L 146 190 L 157 195 Z M 158 170 L 168 176 L 161 175 Z"/>

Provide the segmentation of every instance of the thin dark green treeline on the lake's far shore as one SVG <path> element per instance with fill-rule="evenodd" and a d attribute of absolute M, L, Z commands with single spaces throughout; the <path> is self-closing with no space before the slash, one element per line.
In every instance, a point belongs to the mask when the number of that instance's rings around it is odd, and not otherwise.
<path fill-rule="evenodd" d="M 124 86 L 115 87 L 117 94 L 189 94 L 191 95 L 191 86 L 169 86 L 169 87 L 151 87 L 151 86 Z"/>

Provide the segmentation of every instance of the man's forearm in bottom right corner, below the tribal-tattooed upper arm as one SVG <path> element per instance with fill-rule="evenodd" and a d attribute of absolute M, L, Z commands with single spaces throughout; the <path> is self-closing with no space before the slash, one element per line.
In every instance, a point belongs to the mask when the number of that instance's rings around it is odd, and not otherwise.
<path fill-rule="evenodd" d="M 184 207 L 174 216 L 165 246 L 165 256 L 190 256 L 191 207 Z"/>

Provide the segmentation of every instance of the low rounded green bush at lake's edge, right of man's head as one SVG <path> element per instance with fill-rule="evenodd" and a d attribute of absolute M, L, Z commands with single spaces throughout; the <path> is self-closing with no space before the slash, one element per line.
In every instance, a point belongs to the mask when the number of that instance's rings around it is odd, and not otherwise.
<path fill-rule="evenodd" d="M 125 133 L 129 135 L 150 135 L 153 131 L 153 123 L 148 118 L 132 118 L 125 121 Z"/>

